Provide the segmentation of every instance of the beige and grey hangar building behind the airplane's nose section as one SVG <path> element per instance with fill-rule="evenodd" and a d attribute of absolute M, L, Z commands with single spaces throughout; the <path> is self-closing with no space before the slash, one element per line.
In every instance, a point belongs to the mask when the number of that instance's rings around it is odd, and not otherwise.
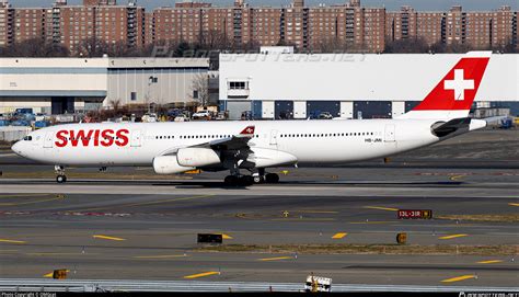
<path fill-rule="evenodd" d="M 208 70 L 206 58 L 1 58 L 0 113 L 74 113 L 116 101 L 185 106 Z"/>

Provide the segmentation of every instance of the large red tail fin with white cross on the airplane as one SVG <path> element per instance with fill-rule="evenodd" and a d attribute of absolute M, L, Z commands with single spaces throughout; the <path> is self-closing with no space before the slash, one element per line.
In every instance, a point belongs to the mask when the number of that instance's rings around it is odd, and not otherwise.
<path fill-rule="evenodd" d="M 466 117 L 491 59 L 491 52 L 472 52 L 441 79 L 407 118 Z"/>

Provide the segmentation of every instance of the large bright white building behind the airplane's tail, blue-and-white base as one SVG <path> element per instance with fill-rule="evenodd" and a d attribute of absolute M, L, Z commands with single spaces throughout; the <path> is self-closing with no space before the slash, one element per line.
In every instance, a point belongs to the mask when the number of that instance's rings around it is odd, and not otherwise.
<path fill-rule="evenodd" d="M 413 108 L 461 54 L 220 55 L 220 105 L 231 118 L 387 118 Z M 491 58 L 476 98 L 478 107 L 509 106 L 519 114 L 519 55 Z"/>

